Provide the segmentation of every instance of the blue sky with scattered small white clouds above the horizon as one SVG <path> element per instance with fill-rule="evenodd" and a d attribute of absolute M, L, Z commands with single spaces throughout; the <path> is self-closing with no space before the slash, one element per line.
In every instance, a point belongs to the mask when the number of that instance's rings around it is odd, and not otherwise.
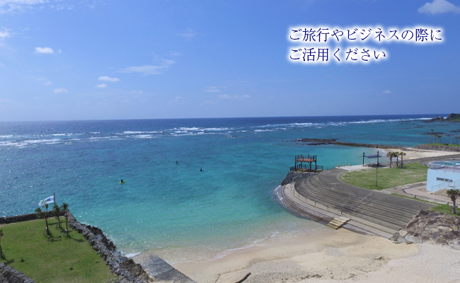
<path fill-rule="evenodd" d="M 458 0 L 0 0 L 0 120 L 460 112 L 459 23 Z M 437 27 L 442 40 L 292 64 L 294 26 Z"/>

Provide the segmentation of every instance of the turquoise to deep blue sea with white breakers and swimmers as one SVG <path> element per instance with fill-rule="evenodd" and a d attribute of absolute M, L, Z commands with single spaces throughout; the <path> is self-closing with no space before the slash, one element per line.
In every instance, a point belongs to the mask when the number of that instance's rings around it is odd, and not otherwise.
<path fill-rule="evenodd" d="M 376 153 L 296 139 L 415 146 L 430 142 L 423 135 L 430 129 L 460 128 L 426 123 L 430 117 L 0 122 L 0 216 L 31 213 L 54 192 L 123 253 L 154 250 L 181 262 L 193 252 L 209 260 L 278 234 L 321 229 L 272 200 L 294 155 L 316 154 L 318 165 L 332 168 Z"/>

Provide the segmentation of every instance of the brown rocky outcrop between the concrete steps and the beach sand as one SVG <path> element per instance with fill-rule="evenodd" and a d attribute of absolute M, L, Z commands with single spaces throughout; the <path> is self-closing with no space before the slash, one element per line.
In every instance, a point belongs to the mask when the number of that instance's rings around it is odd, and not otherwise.
<path fill-rule="evenodd" d="M 460 250 L 460 217 L 421 210 L 391 240 L 398 243 L 437 243 Z"/>

